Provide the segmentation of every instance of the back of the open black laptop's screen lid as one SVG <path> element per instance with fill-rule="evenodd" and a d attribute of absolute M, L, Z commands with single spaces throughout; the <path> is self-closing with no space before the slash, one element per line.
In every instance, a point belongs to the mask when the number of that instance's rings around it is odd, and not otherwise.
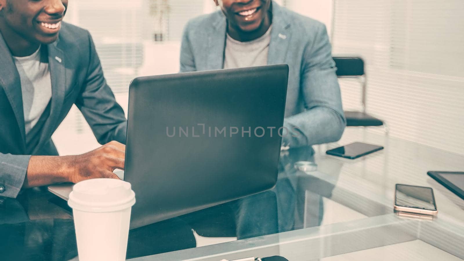
<path fill-rule="evenodd" d="M 131 228 L 271 189 L 288 65 L 135 78 L 124 180 Z"/>

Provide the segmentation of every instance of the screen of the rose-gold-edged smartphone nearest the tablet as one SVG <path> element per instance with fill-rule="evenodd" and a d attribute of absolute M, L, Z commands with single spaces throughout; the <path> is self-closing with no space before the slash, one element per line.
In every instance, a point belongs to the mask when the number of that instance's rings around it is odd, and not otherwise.
<path fill-rule="evenodd" d="M 397 184 L 395 205 L 422 210 L 437 210 L 433 190 L 429 187 Z"/>

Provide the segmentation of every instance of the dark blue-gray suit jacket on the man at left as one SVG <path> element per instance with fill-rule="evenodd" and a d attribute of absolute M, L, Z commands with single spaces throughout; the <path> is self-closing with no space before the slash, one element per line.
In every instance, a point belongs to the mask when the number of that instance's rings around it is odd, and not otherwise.
<path fill-rule="evenodd" d="M 47 46 L 52 80 L 50 115 L 36 146 L 26 148 L 19 73 L 0 34 L 0 197 L 16 197 L 31 155 L 58 155 L 51 139 L 73 104 L 99 143 L 126 142 L 124 112 L 106 84 L 88 31 L 62 23 L 58 40 Z"/>

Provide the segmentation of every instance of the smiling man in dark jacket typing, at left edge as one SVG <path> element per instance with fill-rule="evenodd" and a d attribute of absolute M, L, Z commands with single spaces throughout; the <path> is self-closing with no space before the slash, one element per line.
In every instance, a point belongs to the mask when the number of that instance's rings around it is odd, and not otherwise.
<path fill-rule="evenodd" d="M 21 188 L 117 178 L 126 119 L 89 32 L 62 22 L 68 0 L 0 0 L 0 197 Z M 71 106 L 100 144 L 59 157 L 51 139 Z"/>

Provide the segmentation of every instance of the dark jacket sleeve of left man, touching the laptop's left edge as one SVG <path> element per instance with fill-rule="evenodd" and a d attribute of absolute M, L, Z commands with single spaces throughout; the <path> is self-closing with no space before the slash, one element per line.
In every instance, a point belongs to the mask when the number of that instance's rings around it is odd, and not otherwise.
<path fill-rule="evenodd" d="M 100 144 L 112 140 L 126 143 L 127 120 L 124 111 L 103 76 L 102 65 L 93 40 L 88 34 L 90 59 L 87 76 L 76 106 L 89 123 Z"/>

